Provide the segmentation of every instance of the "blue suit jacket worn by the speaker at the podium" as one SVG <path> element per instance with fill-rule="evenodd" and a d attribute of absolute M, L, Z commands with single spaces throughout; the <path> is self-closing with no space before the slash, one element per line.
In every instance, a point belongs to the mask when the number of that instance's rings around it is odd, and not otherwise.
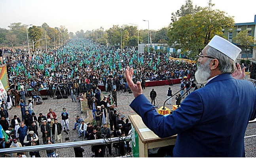
<path fill-rule="evenodd" d="M 167 117 L 143 94 L 130 106 L 159 137 L 178 134 L 175 157 L 242 157 L 248 121 L 256 118 L 256 88 L 224 73 L 190 93 Z"/>

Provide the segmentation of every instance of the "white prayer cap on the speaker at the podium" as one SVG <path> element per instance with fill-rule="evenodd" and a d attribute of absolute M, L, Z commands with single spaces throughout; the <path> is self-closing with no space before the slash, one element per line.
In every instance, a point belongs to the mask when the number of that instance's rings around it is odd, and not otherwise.
<path fill-rule="evenodd" d="M 224 38 L 215 35 L 212 40 L 208 43 L 209 46 L 211 46 L 214 49 L 217 49 L 224 55 L 228 56 L 232 60 L 235 61 L 239 53 L 242 51 L 239 47 L 232 44 L 228 40 L 225 40 Z"/>

